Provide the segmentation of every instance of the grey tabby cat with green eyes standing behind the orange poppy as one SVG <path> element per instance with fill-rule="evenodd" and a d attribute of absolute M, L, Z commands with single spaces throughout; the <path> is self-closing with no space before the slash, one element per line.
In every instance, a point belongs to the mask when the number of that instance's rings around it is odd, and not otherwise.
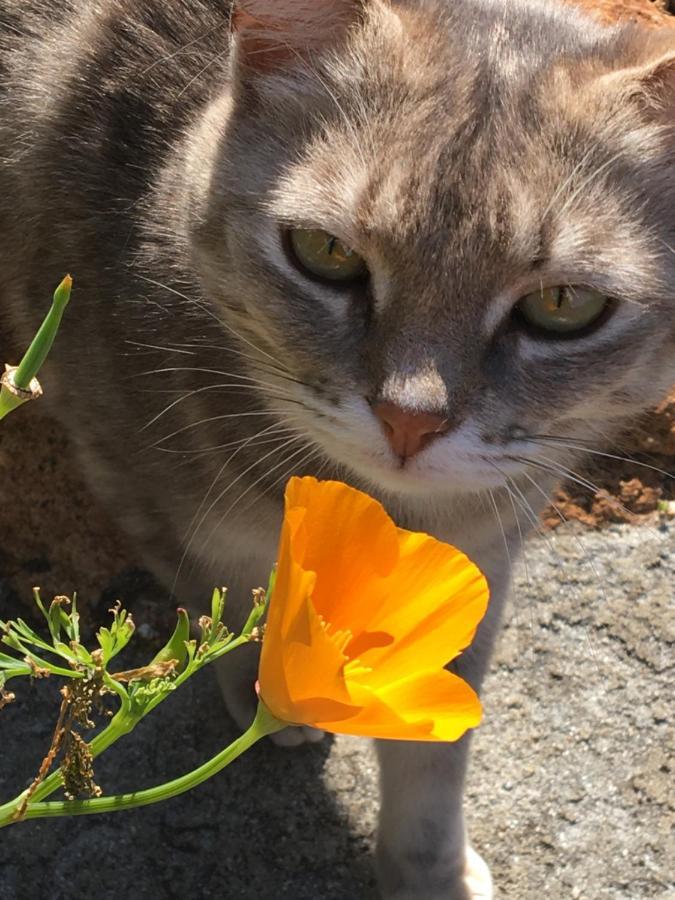
<path fill-rule="evenodd" d="M 181 597 L 346 480 L 486 573 L 480 689 L 551 488 L 675 381 L 674 111 L 675 32 L 553 0 L 3 0 L 2 333 L 72 272 L 48 399 Z M 386 900 L 491 896 L 469 743 L 379 742 Z"/>

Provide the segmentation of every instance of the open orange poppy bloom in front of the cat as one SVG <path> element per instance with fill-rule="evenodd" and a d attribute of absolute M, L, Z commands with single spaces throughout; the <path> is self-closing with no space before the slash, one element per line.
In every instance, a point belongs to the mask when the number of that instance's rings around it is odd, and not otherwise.
<path fill-rule="evenodd" d="M 293 478 L 260 662 L 277 718 L 327 731 L 454 741 L 478 697 L 443 666 L 485 614 L 485 578 L 463 553 L 397 528 L 336 481 Z"/>

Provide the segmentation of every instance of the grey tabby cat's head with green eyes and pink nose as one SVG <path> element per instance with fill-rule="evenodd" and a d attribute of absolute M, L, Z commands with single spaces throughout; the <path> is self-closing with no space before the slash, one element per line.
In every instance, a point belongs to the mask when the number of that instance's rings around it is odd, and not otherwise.
<path fill-rule="evenodd" d="M 311 62 L 240 47 L 198 265 L 329 457 L 497 486 L 675 380 L 673 41 L 366 6 Z"/>

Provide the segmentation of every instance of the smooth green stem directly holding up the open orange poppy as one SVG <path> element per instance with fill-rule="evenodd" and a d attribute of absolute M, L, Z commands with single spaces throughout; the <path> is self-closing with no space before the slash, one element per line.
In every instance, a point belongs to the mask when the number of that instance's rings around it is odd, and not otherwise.
<path fill-rule="evenodd" d="M 221 750 L 220 753 L 216 754 L 216 756 L 212 757 L 208 762 L 205 762 L 198 769 L 189 772 L 187 775 L 182 775 L 180 778 L 175 778 L 173 781 L 168 781 L 166 784 L 148 788 L 144 791 L 135 791 L 132 794 L 120 794 L 115 797 L 97 797 L 93 800 L 66 800 L 51 803 L 33 802 L 29 805 L 24 818 L 39 819 L 55 816 L 85 816 L 93 815 L 94 813 L 119 812 L 121 810 L 134 809 L 139 806 L 149 806 L 150 804 L 158 803 L 161 800 L 169 800 L 172 797 L 177 797 L 179 794 L 183 794 L 186 791 L 197 787 L 197 785 L 211 778 L 213 775 L 216 775 L 221 769 L 224 769 L 225 766 L 241 756 L 242 753 L 252 747 L 253 744 L 261 738 L 268 734 L 273 734 L 275 731 L 280 731 L 285 727 L 286 724 L 284 722 L 280 722 L 278 719 L 274 718 L 269 710 L 267 710 L 262 703 L 259 703 L 256 717 L 248 731 L 237 738 L 236 741 L 233 741 L 229 747 Z M 102 736 L 103 733 L 99 735 L 99 737 Z M 92 741 L 92 752 L 94 743 L 95 741 Z M 105 748 L 99 749 L 98 752 L 102 752 L 102 749 Z M 47 782 L 45 782 L 43 788 L 46 787 L 46 784 Z M 3 822 L 1 818 L 2 811 L 3 808 L 0 807 L 0 827 L 2 827 L 3 824 L 9 824 L 7 821 Z"/>

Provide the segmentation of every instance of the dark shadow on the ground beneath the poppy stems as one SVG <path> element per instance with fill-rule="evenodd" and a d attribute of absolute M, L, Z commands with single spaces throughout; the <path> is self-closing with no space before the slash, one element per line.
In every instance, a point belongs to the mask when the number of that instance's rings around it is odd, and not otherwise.
<path fill-rule="evenodd" d="M 0 608 L 0 618 L 7 612 Z M 58 709 L 54 690 L 42 684 L 18 694 L 2 714 L 3 798 L 36 772 Z M 236 734 L 203 672 L 101 757 L 97 779 L 106 793 L 149 787 L 197 767 Z M 323 781 L 330 753 L 329 740 L 295 750 L 264 741 L 160 806 L 6 829 L 0 898 L 367 897 L 368 838 L 350 829 Z M 348 758 L 343 768 L 347 777 Z"/>

